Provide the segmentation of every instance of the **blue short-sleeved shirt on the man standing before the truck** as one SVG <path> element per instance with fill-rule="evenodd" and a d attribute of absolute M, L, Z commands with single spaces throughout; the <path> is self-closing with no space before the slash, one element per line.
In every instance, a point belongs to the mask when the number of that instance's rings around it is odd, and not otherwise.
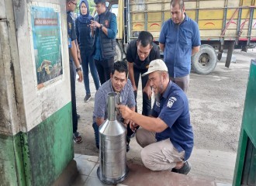
<path fill-rule="evenodd" d="M 188 75 L 191 70 L 192 47 L 201 45 L 197 23 L 187 15 L 181 24 L 168 19 L 161 29 L 159 43 L 165 45 L 164 62 L 170 77 Z"/>

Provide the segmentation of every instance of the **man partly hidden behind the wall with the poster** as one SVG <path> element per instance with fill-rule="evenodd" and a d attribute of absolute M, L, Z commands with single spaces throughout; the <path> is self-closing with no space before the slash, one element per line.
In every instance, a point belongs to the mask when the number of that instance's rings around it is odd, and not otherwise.
<path fill-rule="evenodd" d="M 77 6 L 77 0 L 66 1 L 66 12 L 67 12 L 67 41 L 68 41 L 68 52 L 69 52 L 69 69 L 71 78 L 71 103 L 72 103 L 72 122 L 73 122 L 73 140 L 74 143 L 81 143 L 81 136 L 78 133 L 78 115 L 75 99 L 75 76 L 73 63 L 75 64 L 76 71 L 78 72 L 78 81 L 83 81 L 83 75 L 81 73 L 80 63 L 78 61 L 78 49 L 76 45 L 77 36 L 75 34 L 74 19 L 72 13 Z"/>

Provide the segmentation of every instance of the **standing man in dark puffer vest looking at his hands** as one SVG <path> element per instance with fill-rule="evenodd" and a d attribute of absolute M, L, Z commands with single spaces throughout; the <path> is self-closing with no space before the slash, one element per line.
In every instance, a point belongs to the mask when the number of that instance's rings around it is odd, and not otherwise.
<path fill-rule="evenodd" d="M 94 59 L 99 74 L 99 81 L 104 84 L 109 80 L 116 56 L 116 15 L 106 8 L 106 0 L 94 0 L 98 13 L 92 21 L 91 35 L 94 37 Z"/>

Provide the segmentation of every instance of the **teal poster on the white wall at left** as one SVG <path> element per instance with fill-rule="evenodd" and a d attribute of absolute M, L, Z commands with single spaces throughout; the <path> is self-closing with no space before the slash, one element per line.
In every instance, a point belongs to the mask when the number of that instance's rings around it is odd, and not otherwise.
<path fill-rule="evenodd" d="M 33 49 L 37 88 L 63 73 L 61 59 L 61 18 L 56 9 L 31 6 Z"/>

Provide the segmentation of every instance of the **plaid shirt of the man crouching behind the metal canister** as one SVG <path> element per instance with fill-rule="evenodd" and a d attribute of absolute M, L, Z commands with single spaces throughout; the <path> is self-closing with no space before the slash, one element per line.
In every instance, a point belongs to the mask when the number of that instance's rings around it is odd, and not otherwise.
<path fill-rule="evenodd" d="M 108 94 L 109 92 L 114 91 L 112 88 L 112 81 L 106 81 L 95 94 L 95 104 L 93 111 L 93 122 L 96 122 L 96 118 L 108 118 Z M 120 91 L 120 105 L 127 105 L 129 108 L 133 108 L 136 105 L 133 86 L 130 82 L 130 79 L 127 79 L 127 82 L 122 91 Z M 118 116 L 117 116 L 118 118 Z"/>

